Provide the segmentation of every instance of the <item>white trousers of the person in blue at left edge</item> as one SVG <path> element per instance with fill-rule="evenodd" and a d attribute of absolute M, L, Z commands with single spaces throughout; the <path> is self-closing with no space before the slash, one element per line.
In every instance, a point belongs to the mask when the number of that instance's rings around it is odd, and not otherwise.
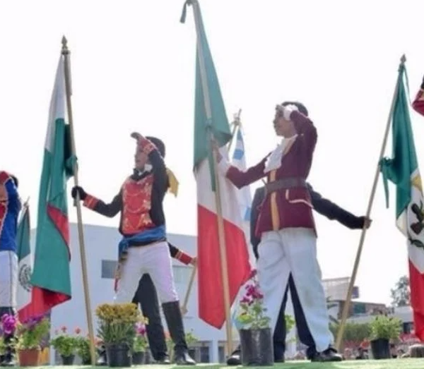
<path fill-rule="evenodd" d="M 13 251 L 0 251 L 0 307 L 16 308 L 18 256 Z"/>

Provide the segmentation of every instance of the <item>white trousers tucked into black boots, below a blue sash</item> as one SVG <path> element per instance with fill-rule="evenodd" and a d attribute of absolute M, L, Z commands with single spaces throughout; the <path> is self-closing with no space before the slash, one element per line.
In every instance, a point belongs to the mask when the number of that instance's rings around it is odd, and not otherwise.
<path fill-rule="evenodd" d="M 128 248 L 127 258 L 121 268 L 121 277 L 114 298 L 117 303 L 132 301 L 140 279 L 146 273 L 151 276 L 160 303 L 178 301 L 170 249 L 166 241 Z"/>

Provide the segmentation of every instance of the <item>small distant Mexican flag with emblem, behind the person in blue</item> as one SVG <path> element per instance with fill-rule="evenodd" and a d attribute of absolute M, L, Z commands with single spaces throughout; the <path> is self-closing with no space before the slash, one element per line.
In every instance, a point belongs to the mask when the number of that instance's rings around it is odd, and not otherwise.
<path fill-rule="evenodd" d="M 32 286 L 30 284 L 31 271 L 33 270 L 33 258 L 30 248 L 30 209 L 24 205 L 22 216 L 16 232 L 16 246 L 18 254 L 18 288 L 16 291 L 16 303 L 20 321 L 27 320 L 33 311 L 31 308 Z"/>

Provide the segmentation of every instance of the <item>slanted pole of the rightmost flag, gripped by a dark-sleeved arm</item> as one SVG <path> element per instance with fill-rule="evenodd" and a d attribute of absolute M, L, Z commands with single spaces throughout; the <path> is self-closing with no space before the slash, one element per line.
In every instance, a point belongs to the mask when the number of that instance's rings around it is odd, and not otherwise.
<path fill-rule="evenodd" d="M 406 56 L 402 55 L 401 56 L 401 65 L 404 65 L 405 62 L 406 62 Z M 384 156 L 384 151 L 386 150 L 387 138 L 389 138 L 389 131 L 390 131 L 390 125 L 391 125 L 390 124 L 391 123 L 391 116 L 393 115 L 394 103 L 396 102 L 396 96 L 398 94 L 398 91 L 399 91 L 399 78 L 396 80 L 396 87 L 394 88 L 393 99 L 391 100 L 389 118 L 387 119 L 386 130 L 384 131 L 382 148 L 380 150 L 379 159 L 378 159 L 378 162 L 377 162 L 377 168 L 375 169 L 374 182 L 372 183 L 370 200 L 368 201 L 367 213 L 366 213 L 366 216 L 365 216 L 367 218 L 370 218 L 372 203 L 374 202 L 375 191 L 377 190 L 377 181 L 378 181 L 379 173 L 380 173 L 379 163 L 381 162 L 381 160 Z M 346 296 L 346 301 L 344 303 L 343 310 L 342 310 L 342 313 L 341 313 L 340 327 L 338 327 L 337 339 L 336 339 L 336 349 L 338 351 L 340 351 L 340 349 L 341 349 L 341 341 L 342 341 L 342 338 L 343 338 L 344 328 L 346 326 L 346 320 L 348 318 L 349 307 L 351 306 L 353 286 L 355 284 L 356 274 L 358 272 L 360 255 L 361 255 L 362 250 L 363 250 L 363 244 L 364 244 L 364 241 L 365 241 L 366 232 L 367 232 L 367 227 L 364 225 L 363 230 L 360 234 L 360 241 L 359 241 L 358 251 L 356 253 L 355 264 L 353 265 L 351 280 L 349 282 L 348 294 Z"/>

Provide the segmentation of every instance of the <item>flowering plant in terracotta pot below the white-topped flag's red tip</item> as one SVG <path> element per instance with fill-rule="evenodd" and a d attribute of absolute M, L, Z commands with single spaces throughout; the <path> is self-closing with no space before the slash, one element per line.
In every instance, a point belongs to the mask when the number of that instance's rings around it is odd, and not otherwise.
<path fill-rule="evenodd" d="M 20 366 L 37 366 L 40 361 L 41 343 L 50 330 L 50 322 L 44 315 L 18 322 L 16 327 Z"/>

